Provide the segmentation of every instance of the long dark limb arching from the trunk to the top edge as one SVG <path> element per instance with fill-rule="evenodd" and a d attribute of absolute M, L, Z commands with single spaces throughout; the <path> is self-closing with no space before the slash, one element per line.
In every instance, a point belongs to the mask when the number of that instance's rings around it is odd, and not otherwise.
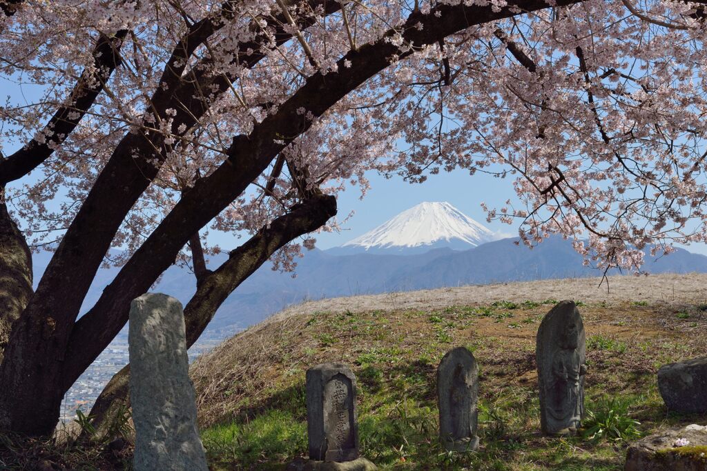
<path fill-rule="evenodd" d="M 572 0 L 565 4 L 571 3 Z M 529 0 L 523 6 L 527 10 L 545 8 L 544 0 Z M 251 181 L 267 169 L 271 160 L 312 124 L 298 109 L 304 107 L 314 117 L 321 116 L 368 78 L 390 65 L 390 57 L 400 57 L 412 53 L 414 48 L 437 42 L 445 37 L 468 28 L 473 24 L 487 23 L 513 16 L 515 8 L 501 8 L 494 12 L 481 6 L 436 7 L 441 12 L 441 20 L 433 15 L 413 13 L 402 28 L 388 31 L 380 40 L 366 44 L 357 51 L 349 51 L 339 59 L 337 73 L 315 73 L 289 100 L 284 102 L 276 114 L 271 114 L 253 129 L 250 136 L 237 136 L 228 149 L 228 159 L 216 171 L 197 181 L 194 188 L 165 217 L 163 222 L 136 251 L 134 256 L 120 270 L 113 282 L 106 287 L 103 295 L 88 313 L 76 322 L 71 334 L 71 361 L 67 366 L 78 364 L 78 371 L 68 371 L 62 375 L 73 382 L 76 374 L 88 367 L 95 356 L 119 332 L 127 321 L 127 306 L 139 294 L 145 292 L 154 280 L 174 260 L 175 254 L 186 244 L 195 230 L 204 227 L 211 219 L 226 208 Z M 512 11 L 513 10 L 513 11 Z M 414 27 L 422 23 L 422 28 Z M 387 38 L 400 30 L 403 39 L 413 47 L 408 52 L 400 52 Z M 350 61 L 351 67 L 344 67 Z M 285 136 L 285 138 L 283 138 Z M 184 222 L 187 221 L 187 224 Z M 114 306 L 124 306 L 122 316 L 107 316 Z M 87 333 L 95 338 L 93 345 L 86 345 L 82 339 Z"/>

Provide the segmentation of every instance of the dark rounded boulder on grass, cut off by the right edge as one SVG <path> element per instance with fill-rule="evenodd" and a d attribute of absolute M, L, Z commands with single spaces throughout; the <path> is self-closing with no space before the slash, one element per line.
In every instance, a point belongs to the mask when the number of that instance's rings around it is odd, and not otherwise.
<path fill-rule="evenodd" d="M 668 410 L 707 412 L 707 357 L 661 366 L 658 389 Z"/>

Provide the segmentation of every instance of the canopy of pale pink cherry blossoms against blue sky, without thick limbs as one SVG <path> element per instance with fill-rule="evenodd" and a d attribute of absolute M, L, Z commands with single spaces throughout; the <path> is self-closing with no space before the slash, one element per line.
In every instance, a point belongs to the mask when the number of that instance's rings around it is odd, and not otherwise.
<path fill-rule="evenodd" d="M 314 189 L 337 194 L 352 185 L 365 193 L 370 170 L 421 183 L 461 168 L 470 179 L 475 172 L 513 179 L 521 207 L 509 200 L 485 208 L 489 220 L 520 220 L 528 245 L 553 233 L 571 238 L 602 268 L 640 270 L 646 247 L 655 255 L 673 242 L 707 242 L 707 29 L 699 4 L 553 1 L 418 47 L 407 33 L 444 21 L 445 6 L 461 0 L 331 3 L 30 1 L 4 18 L 0 74 L 42 93 L 0 106 L 0 150 L 33 138 L 56 146 L 41 176 L 8 188 L 31 242 L 61 237 L 127 133 L 161 135 L 158 177 L 113 241 L 129 257 L 180 194 L 221 165 L 234 136 L 274 116 L 308 78 L 351 68 L 339 60 L 380 41 L 397 48 L 390 65 L 323 113 L 301 109 L 310 126 L 281 136 L 286 165 L 274 161 L 211 228 L 257 232 Z M 515 8 L 502 0 L 464 4 Z M 175 44 L 204 18 L 216 18 L 209 38 L 170 63 Z M 121 64 L 93 107 L 69 136 L 45 129 L 93 66 L 97 37 L 119 33 Z M 280 40 L 284 34 L 290 39 Z M 254 54 L 262 59 L 248 66 Z M 168 67 L 199 83 L 184 97 L 205 107 L 194 124 L 180 119 L 188 104 L 154 103 L 174 86 L 164 79 Z M 56 198 L 64 201 L 58 207 L 50 204 Z M 286 247 L 276 263 L 291 269 L 299 249 Z"/>

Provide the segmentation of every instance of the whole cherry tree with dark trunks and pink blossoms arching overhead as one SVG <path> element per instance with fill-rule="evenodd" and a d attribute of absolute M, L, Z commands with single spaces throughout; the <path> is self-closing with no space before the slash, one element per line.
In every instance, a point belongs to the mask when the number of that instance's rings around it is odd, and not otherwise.
<path fill-rule="evenodd" d="M 49 434 L 131 300 L 173 263 L 196 278 L 193 343 L 268 258 L 291 269 L 314 242 L 305 234 L 335 227 L 336 194 L 365 193 L 370 170 L 417 183 L 455 168 L 513 178 L 523 207 L 486 208 L 489 218 L 520 219 L 529 245 L 562 234 L 604 268 L 640 270 L 646 246 L 707 241 L 701 4 L 0 9 L 0 73 L 44 90 L 0 107 L 0 429 Z M 205 244 L 209 229 L 251 237 L 210 271 L 204 254 L 221 249 Z M 40 247 L 54 254 L 33 290 Z M 125 250 L 111 258 L 111 247 Z M 102 263 L 122 268 L 78 318 Z M 97 412 L 124 398 L 127 371 Z"/>

